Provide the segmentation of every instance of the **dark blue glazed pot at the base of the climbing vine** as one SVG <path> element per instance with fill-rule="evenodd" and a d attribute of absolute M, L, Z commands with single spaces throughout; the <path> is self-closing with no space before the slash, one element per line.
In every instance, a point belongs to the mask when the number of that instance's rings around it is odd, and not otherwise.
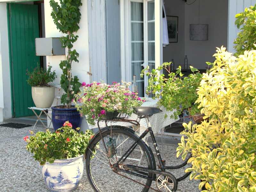
<path fill-rule="evenodd" d="M 72 108 L 58 108 L 52 107 L 52 125 L 56 131 L 62 125 L 69 121 L 72 124 L 72 128 L 76 130 L 77 127 L 81 126 L 82 117 L 74 106 Z"/>

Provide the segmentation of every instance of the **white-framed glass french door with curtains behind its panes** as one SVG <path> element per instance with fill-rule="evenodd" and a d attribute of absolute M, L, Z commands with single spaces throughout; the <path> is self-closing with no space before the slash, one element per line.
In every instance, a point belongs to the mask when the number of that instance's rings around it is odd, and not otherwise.
<path fill-rule="evenodd" d="M 132 81 L 135 75 L 139 96 L 148 97 L 145 94 L 148 78 L 141 78 L 140 72 L 146 66 L 157 68 L 162 62 L 162 0 L 124 0 L 120 7 L 124 16 L 123 29 L 121 18 L 122 79 Z"/>

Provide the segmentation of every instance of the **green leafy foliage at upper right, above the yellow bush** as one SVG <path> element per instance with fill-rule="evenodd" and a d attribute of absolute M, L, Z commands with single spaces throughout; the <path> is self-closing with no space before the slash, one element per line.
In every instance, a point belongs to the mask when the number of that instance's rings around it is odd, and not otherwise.
<path fill-rule="evenodd" d="M 256 4 L 244 9 L 244 12 L 236 14 L 235 24 L 241 31 L 234 41 L 235 56 L 244 54 L 245 50 L 255 49 L 256 44 Z"/>

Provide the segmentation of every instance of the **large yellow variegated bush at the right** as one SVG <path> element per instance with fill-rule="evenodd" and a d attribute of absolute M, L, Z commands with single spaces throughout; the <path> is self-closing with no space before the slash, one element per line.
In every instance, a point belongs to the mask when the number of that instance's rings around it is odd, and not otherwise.
<path fill-rule="evenodd" d="M 177 156 L 189 163 L 190 179 L 204 192 L 252 192 L 256 188 L 256 51 L 239 57 L 218 48 L 213 68 L 204 74 L 198 100 L 210 117 L 200 125 L 183 124 Z"/>

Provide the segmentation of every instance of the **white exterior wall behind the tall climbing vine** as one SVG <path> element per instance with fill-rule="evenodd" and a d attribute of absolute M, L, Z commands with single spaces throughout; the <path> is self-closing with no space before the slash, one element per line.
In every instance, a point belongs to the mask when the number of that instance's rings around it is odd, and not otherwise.
<path fill-rule="evenodd" d="M 76 43 L 74 44 L 74 49 L 79 53 L 79 62 L 72 63 L 72 75 L 77 75 L 80 82 L 89 83 L 89 44 L 88 44 L 88 20 L 87 20 L 87 0 L 82 0 L 83 5 L 80 7 L 80 12 L 82 14 L 79 23 L 80 29 L 77 32 L 79 36 Z M 49 0 L 44 1 L 44 15 L 45 15 L 45 37 L 60 37 L 63 34 L 59 32 L 56 28 L 52 16 L 52 8 L 49 4 Z M 65 60 L 65 56 L 46 56 L 47 64 L 52 65 L 52 69 L 56 70 L 58 78 L 53 82 L 55 84 L 60 84 L 61 69 L 59 67 L 60 60 Z M 56 89 L 56 95 L 58 94 Z M 61 94 L 60 94 L 61 96 Z M 60 105 L 60 101 L 58 103 Z M 53 101 L 53 106 L 56 106 L 56 100 Z M 82 123 L 82 131 L 87 128 L 85 120 Z"/>

